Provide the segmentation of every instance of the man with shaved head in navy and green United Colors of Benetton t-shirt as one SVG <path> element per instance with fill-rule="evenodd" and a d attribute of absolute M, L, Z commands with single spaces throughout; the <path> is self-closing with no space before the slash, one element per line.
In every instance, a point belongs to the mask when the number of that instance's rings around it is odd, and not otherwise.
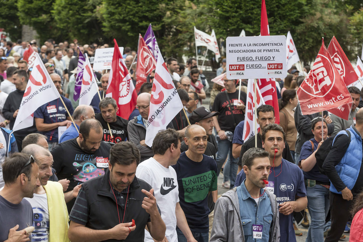
<path fill-rule="evenodd" d="M 179 203 L 185 213 L 194 238 L 208 241 L 209 220 L 207 196 L 213 195 L 217 201 L 217 163 L 207 155 L 207 133 L 202 126 L 192 124 L 185 130 L 184 142 L 188 150 L 181 153 L 178 162 L 172 167 L 176 171 L 179 186 Z M 177 227 L 179 241 L 187 241 Z"/>

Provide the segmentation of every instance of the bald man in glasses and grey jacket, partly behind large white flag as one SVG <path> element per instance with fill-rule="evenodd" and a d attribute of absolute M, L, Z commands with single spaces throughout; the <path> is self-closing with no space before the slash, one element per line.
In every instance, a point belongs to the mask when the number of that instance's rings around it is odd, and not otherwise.
<path fill-rule="evenodd" d="M 140 151 L 140 162 L 154 156 L 152 149 L 145 144 L 146 123 L 149 116 L 150 99 L 150 93 L 141 93 L 138 96 L 136 99 L 136 108 L 139 110 L 140 114 L 133 118 L 127 125 L 129 141 L 135 143 Z M 174 128 L 174 126 L 172 123 L 169 123 L 167 128 Z"/>

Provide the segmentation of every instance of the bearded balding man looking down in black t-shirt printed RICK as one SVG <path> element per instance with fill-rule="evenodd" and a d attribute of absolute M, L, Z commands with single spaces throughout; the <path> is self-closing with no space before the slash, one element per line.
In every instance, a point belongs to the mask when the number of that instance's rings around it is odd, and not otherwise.
<path fill-rule="evenodd" d="M 53 168 L 58 179 L 70 180 L 68 189 L 105 174 L 111 146 L 102 142 L 102 126 L 98 120 L 86 119 L 79 125 L 79 136 L 58 144 L 52 151 Z M 67 202 L 68 212 L 76 199 Z"/>

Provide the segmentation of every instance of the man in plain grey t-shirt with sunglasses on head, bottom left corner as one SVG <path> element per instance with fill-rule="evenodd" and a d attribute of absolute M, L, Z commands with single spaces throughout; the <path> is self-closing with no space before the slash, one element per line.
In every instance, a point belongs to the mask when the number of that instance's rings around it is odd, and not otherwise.
<path fill-rule="evenodd" d="M 33 209 L 24 197 L 32 198 L 40 186 L 39 168 L 33 156 L 13 153 L 3 163 L 5 186 L 0 191 L 0 241 L 27 241 L 23 230 L 32 226 Z"/>

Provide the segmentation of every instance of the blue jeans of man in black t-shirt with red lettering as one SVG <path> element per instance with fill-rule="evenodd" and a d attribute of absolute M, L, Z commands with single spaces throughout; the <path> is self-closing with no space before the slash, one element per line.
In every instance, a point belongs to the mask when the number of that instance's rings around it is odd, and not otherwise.
<path fill-rule="evenodd" d="M 219 140 L 218 141 L 218 152 L 217 152 L 217 165 L 218 165 L 218 171 L 217 171 L 217 176 L 219 175 L 219 172 L 221 171 L 222 165 L 224 163 L 224 161 L 227 159 L 227 156 L 229 155 L 229 157 L 231 157 L 230 160 L 230 165 L 229 165 L 229 171 L 225 171 L 225 169 L 223 169 L 223 175 L 224 176 L 229 176 L 229 181 L 231 184 L 231 187 L 234 186 L 234 182 L 236 181 L 236 176 L 237 176 L 237 170 L 238 170 L 238 158 L 233 158 L 232 156 L 232 141 L 229 141 L 228 139 L 224 139 L 224 140 Z M 228 161 L 227 161 L 228 163 Z"/>

